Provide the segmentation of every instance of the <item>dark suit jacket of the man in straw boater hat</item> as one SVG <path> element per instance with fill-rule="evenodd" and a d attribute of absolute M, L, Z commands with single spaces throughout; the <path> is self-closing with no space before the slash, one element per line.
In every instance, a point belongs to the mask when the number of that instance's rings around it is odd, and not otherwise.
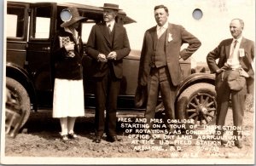
<path fill-rule="evenodd" d="M 117 23 L 113 26 L 113 43 L 110 42 L 108 28 L 105 23 L 96 24 L 91 28 L 90 37 L 86 46 L 86 54 L 92 57 L 93 77 L 102 77 L 106 74 L 103 63 L 97 61 L 98 54 L 108 55 L 111 51 L 117 53 L 116 60 L 109 60 L 113 66 L 115 77 L 123 77 L 123 58 L 127 56 L 131 49 L 125 27 Z M 105 65 L 106 66 L 106 65 Z"/>

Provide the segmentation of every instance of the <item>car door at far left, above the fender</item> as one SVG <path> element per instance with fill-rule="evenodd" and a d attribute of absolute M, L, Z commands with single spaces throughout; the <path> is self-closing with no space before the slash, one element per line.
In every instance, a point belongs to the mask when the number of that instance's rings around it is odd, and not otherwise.
<path fill-rule="evenodd" d="M 7 3 L 5 17 L 6 62 L 23 69 L 26 60 L 26 37 L 29 3 Z"/>

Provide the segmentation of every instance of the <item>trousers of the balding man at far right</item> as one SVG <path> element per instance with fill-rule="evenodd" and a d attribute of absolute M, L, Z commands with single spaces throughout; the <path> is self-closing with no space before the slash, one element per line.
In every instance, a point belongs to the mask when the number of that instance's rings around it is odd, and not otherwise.
<path fill-rule="evenodd" d="M 216 92 L 217 92 L 217 115 L 216 115 L 216 125 L 224 126 L 225 118 L 228 112 L 230 95 L 232 102 L 232 113 L 233 113 L 233 123 L 236 128 L 242 127 L 242 119 L 244 116 L 245 100 L 247 95 L 247 86 L 244 86 L 241 90 L 235 91 L 230 90 L 227 77 L 230 71 L 224 71 L 216 77 Z M 233 135 L 238 135 L 238 130 L 234 130 Z M 222 129 L 222 134 L 224 130 Z"/>

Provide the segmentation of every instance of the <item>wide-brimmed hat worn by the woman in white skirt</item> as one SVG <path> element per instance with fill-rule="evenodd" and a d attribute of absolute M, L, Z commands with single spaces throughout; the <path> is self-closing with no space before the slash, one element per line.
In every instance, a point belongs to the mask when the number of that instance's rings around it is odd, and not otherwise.
<path fill-rule="evenodd" d="M 76 8 L 67 8 L 61 11 L 61 20 L 64 21 L 61 27 L 71 26 L 79 20 L 85 19 L 79 15 L 79 10 Z"/>

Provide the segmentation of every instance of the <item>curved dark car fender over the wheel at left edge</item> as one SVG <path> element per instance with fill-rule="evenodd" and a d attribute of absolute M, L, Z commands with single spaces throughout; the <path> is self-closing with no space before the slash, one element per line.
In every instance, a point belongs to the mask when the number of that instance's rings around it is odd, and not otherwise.
<path fill-rule="evenodd" d="M 8 62 L 6 64 L 6 77 L 12 77 L 24 86 L 29 94 L 33 109 L 37 110 L 36 90 L 28 73 L 19 66 L 15 66 L 15 64 Z"/>

